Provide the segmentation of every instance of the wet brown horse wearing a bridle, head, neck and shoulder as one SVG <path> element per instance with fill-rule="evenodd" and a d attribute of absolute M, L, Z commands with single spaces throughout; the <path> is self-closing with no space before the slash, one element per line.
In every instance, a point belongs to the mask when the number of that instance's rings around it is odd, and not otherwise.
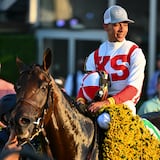
<path fill-rule="evenodd" d="M 57 86 L 49 74 L 51 59 L 47 49 L 42 65 L 27 66 L 16 60 L 20 77 L 15 85 L 17 103 L 11 114 L 11 133 L 24 144 L 45 131 L 53 159 L 96 160 L 94 122 L 72 106 Z"/>

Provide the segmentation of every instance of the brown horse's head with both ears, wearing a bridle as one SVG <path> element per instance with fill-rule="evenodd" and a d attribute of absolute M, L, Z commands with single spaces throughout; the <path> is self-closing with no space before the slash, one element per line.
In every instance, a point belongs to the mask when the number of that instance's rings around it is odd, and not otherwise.
<path fill-rule="evenodd" d="M 43 57 L 43 65 L 26 66 L 20 59 L 16 59 L 20 71 L 15 85 L 17 93 L 16 107 L 11 113 L 11 133 L 17 135 L 20 143 L 26 141 L 42 125 L 45 110 L 51 99 L 51 50 L 47 49 Z"/>

